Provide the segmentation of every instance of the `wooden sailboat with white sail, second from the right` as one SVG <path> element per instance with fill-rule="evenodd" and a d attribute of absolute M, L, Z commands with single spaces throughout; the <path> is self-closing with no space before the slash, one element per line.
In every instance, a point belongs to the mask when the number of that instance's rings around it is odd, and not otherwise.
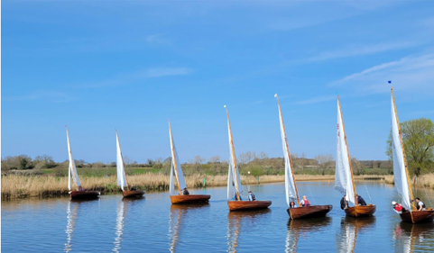
<path fill-rule="evenodd" d="M 340 109 L 339 96 L 337 96 L 337 156 L 336 156 L 336 175 L 335 189 L 345 194 L 346 201 L 354 204 L 352 207 L 346 207 L 346 215 L 353 217 L 371 216 L 374 214 L 376 205 L 358 205 L 356 197 L 356 186 L 354 184 L 353 169 L 351 168 L 348 144 L 346 143 L 346 134 L 344 120 Z"/>

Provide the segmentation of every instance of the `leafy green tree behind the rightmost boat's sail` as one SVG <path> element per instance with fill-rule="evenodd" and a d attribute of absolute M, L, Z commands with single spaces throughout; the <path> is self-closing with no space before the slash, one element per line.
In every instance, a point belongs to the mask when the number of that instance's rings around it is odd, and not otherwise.
<path fill-rule="evenodd" d="M 401 122 L 405 157 L 414 176 L 434 171 L 434 123 L 425 118 Z M 386 154 L 392 160 L 392 131 L 387 140 Z"/>

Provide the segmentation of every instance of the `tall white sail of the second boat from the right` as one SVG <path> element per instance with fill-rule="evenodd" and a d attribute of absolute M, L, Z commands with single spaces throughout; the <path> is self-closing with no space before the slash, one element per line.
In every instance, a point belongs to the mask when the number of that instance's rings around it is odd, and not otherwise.
<path fill-rule="evenodd" d="M 348 149 L 346 147 L 344 122 L 342 113 L 337 102 L 337 156 L 336 156 L 336 172 L 335 172 L 335 189 L 346 194 L 346 200 L 356 204 L 354 193 L 354 182 L 351 177 L 350 161 L 348 160 Z"/>

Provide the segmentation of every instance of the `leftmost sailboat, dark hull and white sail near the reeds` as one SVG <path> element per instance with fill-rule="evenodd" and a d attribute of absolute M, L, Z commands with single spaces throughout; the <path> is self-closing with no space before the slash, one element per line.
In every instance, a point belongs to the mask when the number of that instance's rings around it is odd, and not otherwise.
<path fill-rule="evenodd" d="M 70 150 L 70 143 L 69 143 L 69 132 L 68 127 L 66 127 L 66 135 L 68 140 L 68 152 L 69 152 L 69 168 L 68 168 L 68 189 L 69 194 L 71 196 L 71 199 L 93 199 L 97 198 L 99 195 L 99 192 L 97 191 L 88 191 L 81 187 L 80 180 L 78 178 L 77 174 L 77 167 L 74 162 L 74 159 L 72 158 L 72 152 Z M 74 184 L 77 185 L 77 191 L 71 191 L 71 177 L 72 181 L 74 181 Z"/>

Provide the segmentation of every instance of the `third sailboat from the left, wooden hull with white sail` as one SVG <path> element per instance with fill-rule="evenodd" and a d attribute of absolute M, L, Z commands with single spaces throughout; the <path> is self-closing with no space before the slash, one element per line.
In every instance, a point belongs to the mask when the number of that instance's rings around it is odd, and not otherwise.
<path fill-rule="evenodd" d="M 171 137 L 171 185 L 169 186 L 171 203 L 208 203 L 211 195 L 189 194 L 187 191 L 187 185 L 185 185 L 184 175 L 182 174 L 182 168 L 180 167 L 180 160 L 171 135 L 171 122 L 169 122 L 169 135 Z M 175 174 L 178 183 L 178 193 L 175 193 L 173 174 Z"/>

